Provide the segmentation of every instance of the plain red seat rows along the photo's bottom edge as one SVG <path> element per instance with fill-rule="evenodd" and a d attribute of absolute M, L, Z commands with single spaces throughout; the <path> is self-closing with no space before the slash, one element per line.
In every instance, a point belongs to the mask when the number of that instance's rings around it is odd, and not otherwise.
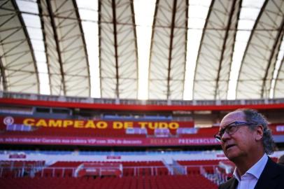
<path fill-rule="evenodd" d="M 191 176 L 132 176 L 105 178 L 17 178 L 0 179 L 1 189 L 217 189 L 218 186 L 202 175 Z"/>

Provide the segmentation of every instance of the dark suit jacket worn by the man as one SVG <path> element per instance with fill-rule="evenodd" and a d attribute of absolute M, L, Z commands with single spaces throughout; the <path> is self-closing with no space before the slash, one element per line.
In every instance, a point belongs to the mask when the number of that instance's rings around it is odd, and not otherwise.
<path fill-rule="evenodd" d="M 235 189 L 238 185 L 238 180 L 229 179 L 222 183 L 219 189 Z M 284 189 L 284 166 L 278 165 L 270 158 L 265 165 L 260 179 L 258 179 L 255 189 Z"/>

